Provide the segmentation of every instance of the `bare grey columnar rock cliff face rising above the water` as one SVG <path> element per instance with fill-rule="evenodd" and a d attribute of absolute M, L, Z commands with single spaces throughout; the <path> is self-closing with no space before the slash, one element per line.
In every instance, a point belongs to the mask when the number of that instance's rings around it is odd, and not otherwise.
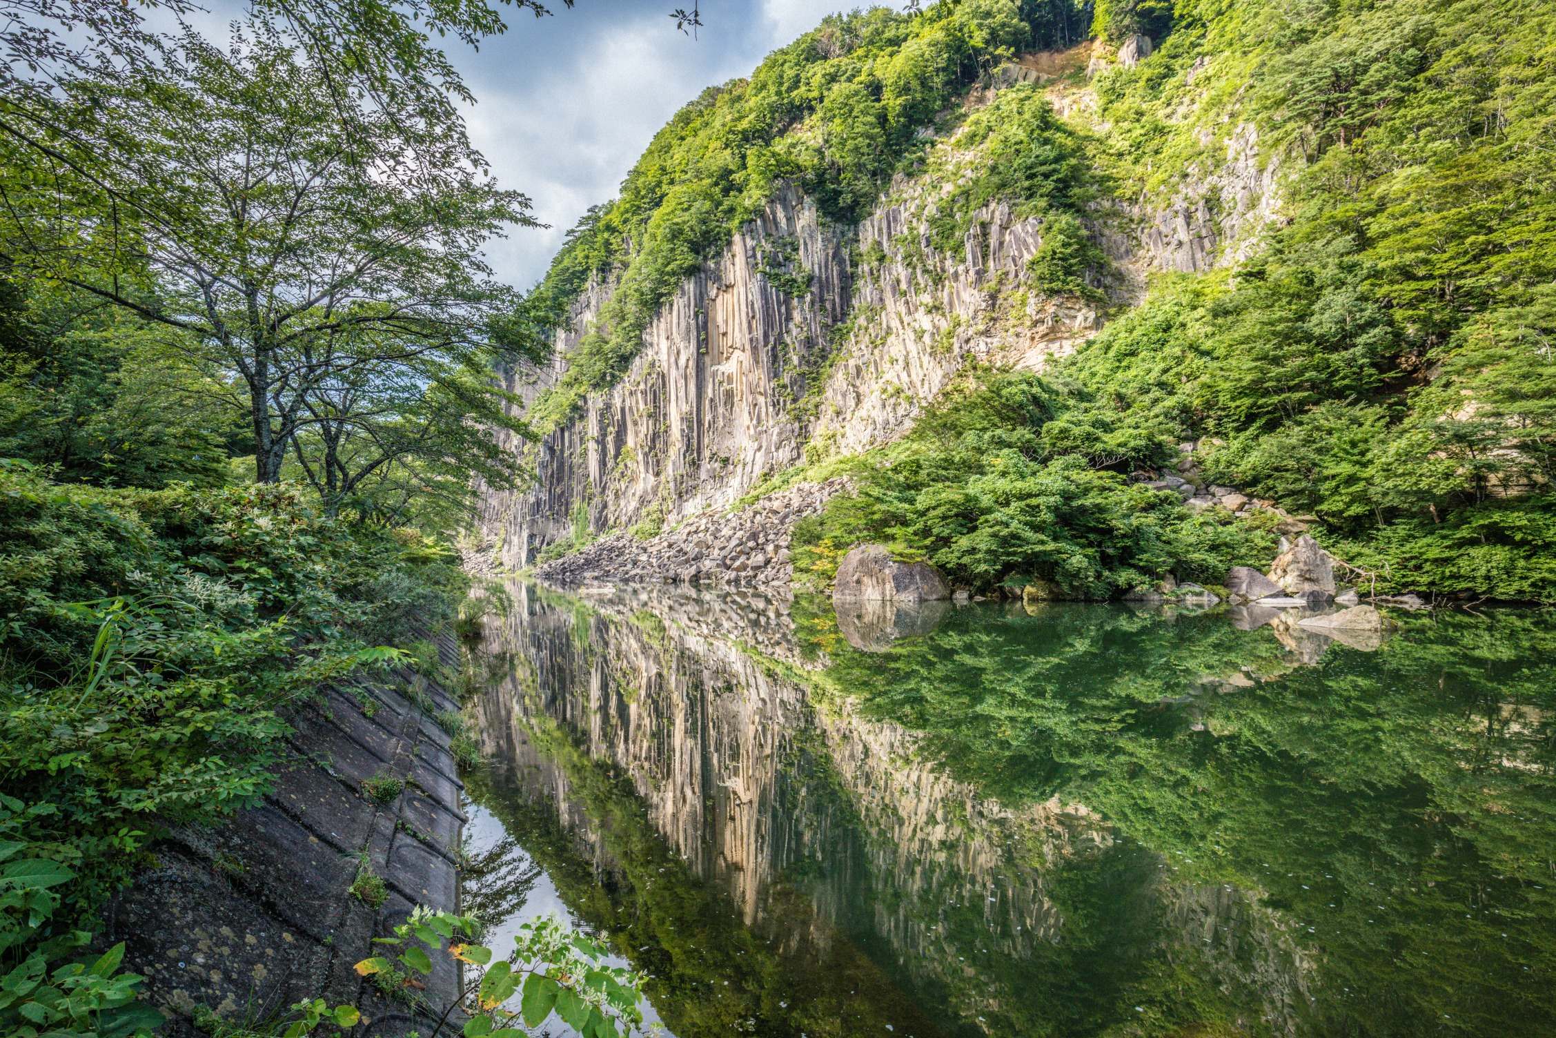
<path fill-rule="evenodd" d="M 1075 107 L 1083 100 L 1060 98 Z M 1123 271 L 1120 303 L 1151 269 L 1198 271 L 1239 257 L 1271 218 L 1277 168 L 1253 131 L 1228 160 L 1165 205 L 1123 207 L 1097 235 Z M 977 156 L 951 154 L 954 162 Z M 907 431 L 968 363 L 1041 370 L 1095 335 L 1097 311 L 1025 285 L 1043 221 L 985 207 L 958 249 L 927 229 L 955 181 L 899 177 L 857 227 L 820 218 L 798 188 L 766 212 L 654 317 L 643 352 L 585 412 L 520 447 L 535 472 L 523 492 L 489 493 L 479 528 L 495 562 L 529 565 L 576 528 L 621 529 L 650 509 L 668 523 L 728 506 L 770 473 L 856 453 Z M 593 285 L 559 333 L 555 361 L 507 373 L 526 400 L 555 384 L 610 285 Z"/>

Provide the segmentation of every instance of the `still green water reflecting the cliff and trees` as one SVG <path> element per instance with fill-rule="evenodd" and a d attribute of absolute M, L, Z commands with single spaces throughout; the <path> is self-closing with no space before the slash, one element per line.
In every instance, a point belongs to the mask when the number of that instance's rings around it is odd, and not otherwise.
<path fill-rule="evenodd" d="M 1556 1033 L 1550 612 L 512 593 L 471 794 L 682 1038 Z"/>

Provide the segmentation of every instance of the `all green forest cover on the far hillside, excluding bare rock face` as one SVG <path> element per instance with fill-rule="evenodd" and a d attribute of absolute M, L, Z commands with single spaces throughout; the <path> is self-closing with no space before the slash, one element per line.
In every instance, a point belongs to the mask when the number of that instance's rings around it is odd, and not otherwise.
<path fill-rule="evenodd" d="M 829 17 L 683 109 L 573 230 L 527 317 L 565 324 L 587 285 L 615 288 L 532 417 L 554 428 L 612 387 L 655 308 L 778 182 L 845 229 L 882 193 L 937 193 L 890 249 L 929 293 L 1007 204 L 1041 219 L 1043 246 L 1001 291 L 1100 305 L 1105 327 L 1039 375 L 968 369 L 890 447 L 812 442 L 808 467 L 769 481 L 856 476 L 797 532 L 823 579 L 868 538 L 974 587 L 1218 582 L 1273 552 L 1274 523 L 1130 482 L 1176 472 L 1192 444 L 1198 486 L 1312 517 L 1380 588 L 1550 601 L 1550 30 L 1526 5 L 1418 0 L 1111 3 L 1089 26 L 1013 0 Z M 1116 59 L 1136 34 L 1155 47 Z M 1039 82 L 1002 75 L 1074 45 Z M 1271 184 L 1259 218 L 1226 188 L 1248 167 Z M 1119 244 L 1195 210 L 1203 261 L 1142 266 Z M 856 279 L 887 258 L 874 249 L 856 246 Z M 764 263 L 804 294 L 794 257 Z M 837 336 L 857 350 L 871 319 L 856 310 Z M 814 391 L 828 370 L 806 375 Z"/>

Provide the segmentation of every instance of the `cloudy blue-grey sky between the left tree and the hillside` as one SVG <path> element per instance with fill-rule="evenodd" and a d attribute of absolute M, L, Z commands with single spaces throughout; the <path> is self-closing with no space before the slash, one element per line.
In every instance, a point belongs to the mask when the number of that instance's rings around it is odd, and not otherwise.
<path fill-rule="evenodd" d="M 504 8 L 507 31 L 448 54 L 476 96 L 470 135 L 498 182 L 523 191 L 548 230 L 487 247 L 499 280 L 538 282 L 568 227 L 616 196 L 655 131 L 703 87 L 736 79 L 831 11 L 864 0 L 702 0 L 697 39 L 669 12 L 691 0 L 560 0 L 549 17 Z"/>

